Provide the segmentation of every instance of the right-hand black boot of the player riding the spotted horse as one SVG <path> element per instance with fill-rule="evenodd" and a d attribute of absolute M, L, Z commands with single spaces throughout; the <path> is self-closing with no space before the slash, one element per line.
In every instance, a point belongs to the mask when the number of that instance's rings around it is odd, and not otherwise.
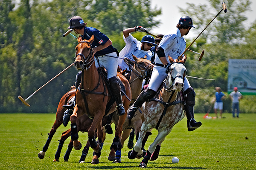
<path fill-rule="evenodd" d="M 187 117 L 188 131 L 193 131 L 202 125 L 201 122 L 196 122 L 194 119 L 194 106 L 195 106 L 195 91 L 192 87 L 184 92 L 186 97 L 185 112 Z"/>

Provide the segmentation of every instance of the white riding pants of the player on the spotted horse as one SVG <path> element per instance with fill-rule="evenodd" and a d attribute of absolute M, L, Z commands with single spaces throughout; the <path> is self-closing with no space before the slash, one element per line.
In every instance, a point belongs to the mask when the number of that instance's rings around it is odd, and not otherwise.
<path fill-rule="evenodd" d="M 166 79 L 167 75 L 166 74 L 166 68 L 161 67 L 161 66 L 157 66 L 155 65 L 153 68 L 153 72 L 148 84 L 148 88 L 153 90 L 153 91 L 157 91 L 158 88 L 160 87 L 160 85 L 162 84 L 163 80 Z M 184 79 L 184 87 L 183 87 L 183 91 L 186 91 L 186 89 L 188 89 L 190 86 L 189 84 L 189 80 L 185 77 Z"/>

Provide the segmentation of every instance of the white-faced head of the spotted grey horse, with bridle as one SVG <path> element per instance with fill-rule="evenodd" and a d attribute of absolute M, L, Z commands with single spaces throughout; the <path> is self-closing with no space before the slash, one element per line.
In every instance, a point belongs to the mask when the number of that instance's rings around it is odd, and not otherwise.
<path fill-rule="evenodd" d="M 169 56 L 171 65 L 166 69 L 168 76 L 164 83 L 165 89 L 167 91 L 173 89 L 175 91 L 181 91 L 184 87 L 184 78 L 186 76 L 186 67 L 184 63 L 186 62 L 186 55 L 181 59 L 172 59 Z"/>

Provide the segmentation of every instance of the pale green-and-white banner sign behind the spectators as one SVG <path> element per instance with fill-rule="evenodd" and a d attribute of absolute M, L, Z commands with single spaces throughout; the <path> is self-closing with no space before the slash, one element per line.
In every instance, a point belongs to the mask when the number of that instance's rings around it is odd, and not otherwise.
<path fill-rule="evenodd" d="M 234 87 L 241 94 L 256 94 L 256 59 L 229 59 L 228 92 Z"/>

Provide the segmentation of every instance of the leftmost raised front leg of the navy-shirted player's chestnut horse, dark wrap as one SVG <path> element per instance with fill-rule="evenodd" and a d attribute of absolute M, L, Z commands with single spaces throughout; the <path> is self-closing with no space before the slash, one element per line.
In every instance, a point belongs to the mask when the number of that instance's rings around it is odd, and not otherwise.
<path fill-rule="evenodd" d="M 81 109 L 78 110 L 78 106 L 76 105 L 73 111 L 73 114 L 70 116 L 70 130 L 71 130 L 71 139 L 73 140 L 73 146 L 76 150 L 80 150 L 82 147 L 82 144 L 79 142 L 78 138 L 78 128 L 76 125 L 77 115 L 79 114 L 79 111 L 81 112 Z"/>

